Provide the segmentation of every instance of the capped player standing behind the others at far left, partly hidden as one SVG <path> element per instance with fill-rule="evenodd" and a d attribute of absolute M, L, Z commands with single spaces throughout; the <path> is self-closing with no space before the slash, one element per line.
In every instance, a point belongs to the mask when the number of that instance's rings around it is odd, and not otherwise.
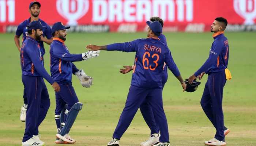
<path fill-rule="evenodd" d="M 14 42 L 18 50 L 20 51 L 20 41 L 19 41 L 20 35 L 23 34 L 23 37 L 22 37 L 22 43 L 23 43 L 26 40 L 27 36 L 29 35 L 27 32 L 27 26 L 29 25 L 29 23 L 33 21 L 41 22 L 42 26 L 47 27 L 46 29 L 42 30 L 43 35 L 41 36 L 41 40 L 38 41 L 40 45 L 41 53 L 42 53 L 42 59 L 44 62 L 44 54 L 45 54 L 44 42 L 47 43 L 48 45 L 52 43 L 52 33 L 51 33 L 50 27 L 43 20 L 39 19 L 40 8 L 41 8 L 41 4 L 37 1 L 33 1 L 29 4 L 30 18 L 19 24 L 16 30 L 16 34 L 14 36 Z M 20 120 L 22 122 L 25 122 L 26 111 L 27 111 L 26 88 L 24 88 L 23 100 L 24 100 L 24 104 L 20 110 Z"/>

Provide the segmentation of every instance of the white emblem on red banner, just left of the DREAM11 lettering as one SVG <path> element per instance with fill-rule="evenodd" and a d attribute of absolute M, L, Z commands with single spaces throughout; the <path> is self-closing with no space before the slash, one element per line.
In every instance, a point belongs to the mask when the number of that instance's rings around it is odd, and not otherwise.
<path fill-rule="evenodd" d="M 57 0 L 57 11 L 68 20 L 68 25 L 75 26 L 89 9 L 89 0 Z"/>

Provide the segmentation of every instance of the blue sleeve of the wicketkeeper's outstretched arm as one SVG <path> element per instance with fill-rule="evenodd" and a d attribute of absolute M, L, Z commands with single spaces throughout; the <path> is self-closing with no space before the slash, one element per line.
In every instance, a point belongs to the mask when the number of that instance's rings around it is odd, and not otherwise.
<path fill-rule="evenodd" d="M 57 57 L 60 58 L 61 60 L 64 61 L 82 61 L 82 54 L 70 54 L 66 49 L 64 49 L 62 46 L 54 45 L 51 46 L 53 49 L 53 54 Z"/>

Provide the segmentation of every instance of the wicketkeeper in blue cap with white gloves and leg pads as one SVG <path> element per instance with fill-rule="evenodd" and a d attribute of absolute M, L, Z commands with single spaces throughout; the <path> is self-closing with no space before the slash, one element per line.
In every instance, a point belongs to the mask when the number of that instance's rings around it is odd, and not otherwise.
<path fill-rule="evenodd" d="M 78 76 L 83 87 L 90 87 L 93 78 L 87 76 L 83 70 L 78 70 L 73 64 L 75 61 L 83 61 L 90 58 L 98 57 L 99 51 L 89 51 L 82 54 L 69 53 L 68 47 L 65 46 L 66 29 L 61 22 L 53 24 L 53 43 L 50 45 L 50 71 L 52 78 L 60 85 L 61 91 L 56 92 L 56 109 L 55 120 L 57 124 L 57 134 L 55 143 L 75 143 L 75 139 L 69 136 L 69 130 L 75 122 L 78 112 L 82 110 L 83 104 L 79 102 L 75 90 L 72 87 L 72 74 Z M 64 122 L 61 123 L 60 115 L 63 108 L 65 109 Z M 61 125 L 63 128 L 61 128 Z"/>

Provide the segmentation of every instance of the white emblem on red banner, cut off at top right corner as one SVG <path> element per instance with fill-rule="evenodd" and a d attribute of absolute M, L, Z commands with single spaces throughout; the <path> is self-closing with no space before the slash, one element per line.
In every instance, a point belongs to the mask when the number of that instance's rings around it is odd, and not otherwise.
<path fill-rule="evenodd" d="M 256 18 L 256 0 L 234 0 L 234 9 L 245 19 L 244 24 L 254 24 Z"/>

